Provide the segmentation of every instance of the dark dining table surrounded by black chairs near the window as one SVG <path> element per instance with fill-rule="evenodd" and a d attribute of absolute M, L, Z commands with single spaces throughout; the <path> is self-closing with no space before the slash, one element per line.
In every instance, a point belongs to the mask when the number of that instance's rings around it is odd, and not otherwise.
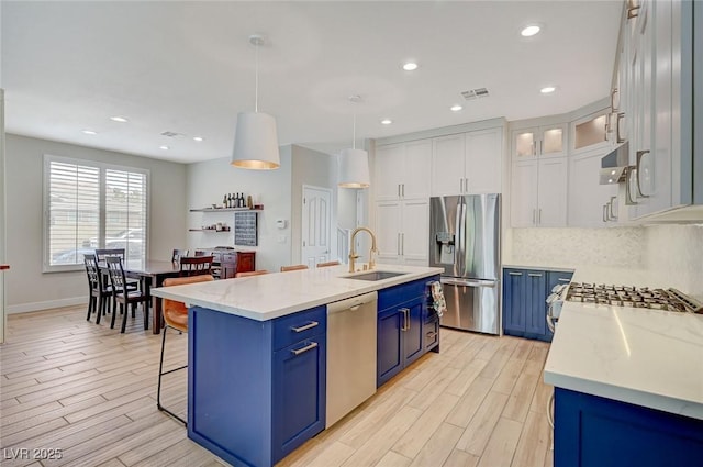
<path fill-rule="evenodd" d="M 100 262 L 99 267 L 107 268 L 107 265 Z M 161 316 L 161 299 L 152 297 L 153 287 L 161 287 L 164 279 L 177 277 L 180 275 L 180 264 L 178 262 L 165 260 L 143 260 L 143 259 L 125 259 L 122 262 L 124 275 L 132 279 L 138 279 L 143 285 L 143 292 L 152 302 L 152 333 L 161 332 L 164 318 Z"/>

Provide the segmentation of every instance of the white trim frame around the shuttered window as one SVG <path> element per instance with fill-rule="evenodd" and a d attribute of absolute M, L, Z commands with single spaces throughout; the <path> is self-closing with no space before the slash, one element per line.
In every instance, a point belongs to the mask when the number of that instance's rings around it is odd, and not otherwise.
<path fill-rule="evenodd" d="M 150 222 L 150 211 L 152 211 L 152 171 L 146 168 L 141 167 L 130 167 L 130 166 L 121 166 L 114 164 L 105 164 L 100 163 L 92 159 L 81 159 L 76 157 L 64 157 L 64 156 L 54 156 L 52 154 L 44 154 L 44 165 L 43 165 L 43 194 L 42 194 L 42 273 L 64 273 L 64 271 L 77 271 L 85 270 L 83 265 L 65 265 L 65 266 L 51 266 L 49 265 L 49 226 L 51 226 L 51 216 L 49 216 L 49 181 L 51 181 L 51 163 L 65 163 L 65 164 L 76 164 L 76 165 L 85 165 L 90 167 L 96 167 L 100 169 L 100 219 L 99 219 L 99 236 L 102 238 L 104 236 L 105 229 L 105 211 L 104 211 L 104 182 L 105 182 L 105 170 L 123 170 L 131 171 L 136 174 L 143 174 L 146 176 L 146 227 L 144 232 L 144 238 L 146 241 L 146 257 L 149 257 L 149 222 Z"/>

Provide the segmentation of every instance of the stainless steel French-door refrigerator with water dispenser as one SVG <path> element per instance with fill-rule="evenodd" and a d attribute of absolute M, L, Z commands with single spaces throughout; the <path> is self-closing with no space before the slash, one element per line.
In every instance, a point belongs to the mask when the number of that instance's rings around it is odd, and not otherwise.
<path fill-rule="evenodd" d="M 429 200 L 429 266 L 440 267 L 447 311 L 439 324 L 500 334 L 500 194 Z"/>

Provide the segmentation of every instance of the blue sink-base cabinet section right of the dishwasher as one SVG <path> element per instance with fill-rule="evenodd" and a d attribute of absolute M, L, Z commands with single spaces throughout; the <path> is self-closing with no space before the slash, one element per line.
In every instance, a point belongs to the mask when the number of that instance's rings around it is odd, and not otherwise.
<path fill-rule="evenodd" d="M 428 282 L 432 280 L 439 277 L 379 290 L 377 387 L 427 351 L 439 351 L 438 320 L 431 308 Z"/>

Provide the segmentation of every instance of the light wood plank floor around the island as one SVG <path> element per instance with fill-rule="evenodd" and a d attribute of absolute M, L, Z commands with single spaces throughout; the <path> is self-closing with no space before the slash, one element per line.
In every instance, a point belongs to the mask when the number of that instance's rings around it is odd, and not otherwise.
<path fill-rule="evenodd" d="M 140 312 L 126 334 L 86 321 L 82 307 L 10 315 L 7 333 L 3 467 L 227 465 L 156 409 L 160 336 L 142 329 Z M 169 367 L 186 362 L 185 334 L 169 333 L 167 345 Z M 547 351 L 443 329 L 442 353 L 417 360 L 279 466 L 551 466 Z M 164 403 L 185 414 L 186 371 L 165 378 Z M 47 449 L 62 458 L 34 457 Z"/>

